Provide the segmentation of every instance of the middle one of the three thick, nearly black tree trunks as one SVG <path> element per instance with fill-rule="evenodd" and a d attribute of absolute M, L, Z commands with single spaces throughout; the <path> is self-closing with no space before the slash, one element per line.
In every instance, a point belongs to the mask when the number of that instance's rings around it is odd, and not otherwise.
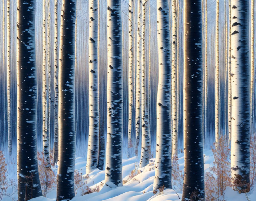
<path fill-rule="evenodd" d="M 75 21 L 76 0 L 62 0 L 59 49 L 57 201 L 71 200 L 75 196 Z"/>

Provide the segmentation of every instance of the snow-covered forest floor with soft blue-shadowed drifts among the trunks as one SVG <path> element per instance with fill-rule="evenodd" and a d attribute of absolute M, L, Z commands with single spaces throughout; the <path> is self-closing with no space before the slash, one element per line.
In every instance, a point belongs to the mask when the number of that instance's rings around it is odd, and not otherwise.
<path fill-rule="evenodd" d="M 213 166 L 214 156 L 211 150 L 204 151 L 205 172 L 209 171 Z M 72 201 L 176 201 L 181 200 L 182 186 L 173 185 L 173 189 L 165 189 L 162 192 L 153 192 L 153 181 L 155 176 L 155 159 L 151 159 L 150 163 L 139 168 L 139 159 L 134 156 L 132 158 L 123 159 L 123 186 L 110 188 L 103 185 L 105 171 L 94 170 L 89 175 L 85 174 L 86 159 L 77 157 L 75 159 L 75 192 L 76 196 Z M 179 154 L 178 159 L 179 170 L 184 170 L 184 156 Z M 57 168 L 52 168 L 57 174 Z M 8 177 L 15 177 L 15 173 L 9 174 Z M 254 186 L 255 187 L 255 186 Z M 3 201 L 17 200 L 17 193 L 12 195 L 13 188 L 10 186 L 7 192 L 11 196 L 3 197 Z M 89 193 L 90 192 L 90 193 Z M 88 194 L 86 194 L 88 193 Z M 247 197 L 248 199 L 247 199 Z M 46 197 L 34 198 L 31 201 L 55 201 L 56 189 L 49 189 Z M 220 199 L 226 201 L 255 201 L 256 191 L 251 188 L 249 193 L 239 194 L 227 187 L 224 197 Z"/>

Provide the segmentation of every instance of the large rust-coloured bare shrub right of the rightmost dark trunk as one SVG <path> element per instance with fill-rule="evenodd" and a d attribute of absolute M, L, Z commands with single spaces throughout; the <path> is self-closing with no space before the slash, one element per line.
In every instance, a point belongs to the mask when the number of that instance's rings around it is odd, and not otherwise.
<path fill-rule="evenodd" d="M 213 148 L 214 147 L 214 148 Z M 205 174 L 205 201 L 217 200 L 227 186 L 231 186 L 230 149 L 225 136 L 220 136 L 219 147 L 213 144 L 214 166 Z M 216 175 L 216 176 L 215 176 Z"/>

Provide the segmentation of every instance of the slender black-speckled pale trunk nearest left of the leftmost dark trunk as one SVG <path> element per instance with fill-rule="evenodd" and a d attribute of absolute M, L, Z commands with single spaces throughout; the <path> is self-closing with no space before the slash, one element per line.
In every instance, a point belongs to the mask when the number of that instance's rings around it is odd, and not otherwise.
<path fill-rule="evenodd" d="M 11 66 L 10 66 L 10 50 L 11 50 L 11 20 L 10 20 L 10 0 L 7 0 L 7 121 L 8 121 L 8 151 L 12 153 L 12 133 L 11 133 Z"/>

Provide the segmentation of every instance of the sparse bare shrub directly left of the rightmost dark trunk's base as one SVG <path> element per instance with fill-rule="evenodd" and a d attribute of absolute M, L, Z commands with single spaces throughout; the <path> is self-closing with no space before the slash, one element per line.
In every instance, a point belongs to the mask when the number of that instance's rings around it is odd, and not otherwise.
<path fill-rule="evenodd" d="M 174 155 L 172 157 L 172 185 L 173 187 L 178 188 L 179 190 L 182 190 L 183 180 L 184 180 L 184 174 L 182 170 L 179 170 L 179 163 L 178 163 L 178 156 Z"/>

